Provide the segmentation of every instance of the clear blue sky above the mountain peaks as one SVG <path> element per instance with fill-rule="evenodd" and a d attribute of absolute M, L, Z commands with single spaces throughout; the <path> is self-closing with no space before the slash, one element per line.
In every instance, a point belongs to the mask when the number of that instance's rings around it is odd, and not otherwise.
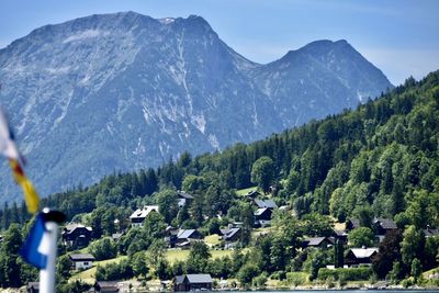
<path fill-rule="evenodd" d="M 269 63 L 316 40 L 347 40 L 394 84 L 439 69 L 436 0 L 1 0 L 0 48 L 33 29 L 93 13 L 198 14 L 235 50 Z"/>

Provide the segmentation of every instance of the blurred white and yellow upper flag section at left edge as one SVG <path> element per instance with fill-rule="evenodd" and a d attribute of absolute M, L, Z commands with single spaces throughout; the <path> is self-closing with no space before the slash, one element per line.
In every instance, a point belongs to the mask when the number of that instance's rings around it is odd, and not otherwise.
<path fill-rule="evenodd" d="M 9 159 L 12 169 L 12 174 L 23 189 L 24 201 L 26 202 L 27 211 L 35 214 L 38 211 L 38 194 L 36 193 L 31 181 L 24 174 L 23 168 L 20 165 L 20 153 L 13 138 L 11 128 L 9 127 L 7 116 L 0 108 L 0 154 Z"/>

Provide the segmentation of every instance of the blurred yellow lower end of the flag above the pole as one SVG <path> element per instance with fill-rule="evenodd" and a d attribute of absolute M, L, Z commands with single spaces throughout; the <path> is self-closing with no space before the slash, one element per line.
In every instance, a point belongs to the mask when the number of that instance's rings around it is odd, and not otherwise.
<path fill-rule="evenodd" d="M 35 214 L 38 211 L 40 198 L 32 182 L 26 178 L 18 160 L 10 159 L 9 164 L 12 169 L 12 174 L 23 189 L 24 201 L 26 202 L 27 212 Z"/>

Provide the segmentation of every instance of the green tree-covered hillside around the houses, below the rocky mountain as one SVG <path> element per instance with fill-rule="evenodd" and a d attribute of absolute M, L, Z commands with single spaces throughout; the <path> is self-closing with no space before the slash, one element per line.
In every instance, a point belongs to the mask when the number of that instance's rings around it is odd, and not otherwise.
<path fill-rule="evenodd" d="M 311 279 L 326 278 L 325 273 L 330 273 L 320 270 L 320 275 L 318 270 L 337 262 L 334 259 L 339 252 L 302 250 L 301 241 L 330 236 L 334 223 L 357 218 L 369 229 L 371 221 L 381 217 L 393 219 L 398 229 L 375 244 L 380 252 L 368 275 L 416 283 L 421 271 L 438 266 L 439 236 L 426 237 L 424 233 L 439 228 L 438 176 L 436 71 L 420 81 L 409 78 L 356 110 L 215 154 L 192 157 L 184 153 L 158 169 L 115 172 L 91 187 L 52 194 L 42 204 L 63 211 L 68 222 L 91 226 L 93 237 L 102 238 L 89 247 L 94 252 L 103 239 L 125 230 L 117 244 L 106 244 L 114 247 L 106 258 L 127 255 L 128 259 L 117 268 L 98 269 L 97 278 L 102 280 L 146 275 L 148 271 L 160 279 L 182 272 L 210 272 L 216 278 L 237 278 L 243 284 L 262 282 L 268 277 L 282 279 L 297 271 L 306 271 Z M 274 212 L 266 237 L 255 236 L 254 210 L 237 192 L 250 187 L 258 187 L 261 196 L 272 199 L 278 206 L 286 206 L 286 212 Z M 189 206 L 178 206 L 178 190 L 193 195 Z M 147 204 L 157 204 L 160 213 L 148 217 L 143 228 L 130 228 L 130 215 Z M 5 272 L 0 274 L 0 284 L 18 286 L 33 281 L 35 271 L 16 256 L 29 229 L 25 206 L 5 204 L 0 219 L 0 267 Z M 200 245 L 191 248 L 191 261 L 171 266 L 155 259 L 149 269 L 140 269 L 142 253 L 151 249 L 162 253 L 165 244 L 160 241 L 168 225 L 198 228 L 206 236 L 236 222 L 241 223 L 239 247 L 245 249 L 234 250 L 232 258 L 207 261 L 209 251 Z M 357 234 L 361 238 L 368 232 Z M 350 243 L 354 241 L 352 236 Z M 347 249 L 335 247 L 335 251 Z M 60 259 L 66 252 L 60 246 Z M 111 270 L 116 269 L 126 275 L 116 273 L 117 278 L 112 278 Z M 59 278 L 69 274 L 64 269 Z"/>

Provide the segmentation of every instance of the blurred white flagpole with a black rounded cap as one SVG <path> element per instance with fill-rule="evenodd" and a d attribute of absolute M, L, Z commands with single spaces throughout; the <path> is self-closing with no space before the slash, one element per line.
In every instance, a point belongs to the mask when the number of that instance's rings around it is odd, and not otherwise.
<path fill-rule="evenodd" d="M 58 225 L 66 219 L 66 215 L 58 211 L 43 210 L 45 219 L 45 238 L 41 247 L 47 252 L 47 266 L 40 270 L 40 292 L 55 293 L 55 263 L 57 255 Z"/>

